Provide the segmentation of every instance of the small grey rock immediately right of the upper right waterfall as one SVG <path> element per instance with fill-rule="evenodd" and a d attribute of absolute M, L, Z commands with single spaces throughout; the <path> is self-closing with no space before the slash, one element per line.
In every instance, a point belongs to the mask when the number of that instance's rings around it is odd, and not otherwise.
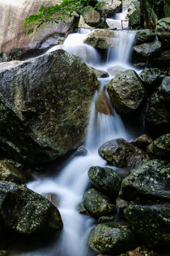
<path fill-rule="evenodd" d="M 154 32 L 151 29 L 142 29 L 136 33 L 136 43 L 150 43 L 156 39 Z"/>

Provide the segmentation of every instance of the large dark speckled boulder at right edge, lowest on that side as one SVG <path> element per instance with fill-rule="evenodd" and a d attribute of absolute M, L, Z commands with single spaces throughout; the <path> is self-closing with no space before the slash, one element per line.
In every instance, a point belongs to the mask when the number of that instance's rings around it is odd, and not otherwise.
<path fill-rule="evenodd" d="M 131 201 L 124 213 L 133 232 L 147 245 L 169 245 L 169 202 Z"/>

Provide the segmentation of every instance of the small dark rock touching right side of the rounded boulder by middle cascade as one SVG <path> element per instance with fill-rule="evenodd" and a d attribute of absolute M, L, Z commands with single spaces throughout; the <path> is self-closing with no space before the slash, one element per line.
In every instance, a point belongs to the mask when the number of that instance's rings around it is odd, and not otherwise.
<path fill-rule="evenodd" d="M 140 79 L 149 95 L 159 87 L 161 82 L 160 75 L 161 70 L 159 68 L 145 68 L 140 73 Z"/>

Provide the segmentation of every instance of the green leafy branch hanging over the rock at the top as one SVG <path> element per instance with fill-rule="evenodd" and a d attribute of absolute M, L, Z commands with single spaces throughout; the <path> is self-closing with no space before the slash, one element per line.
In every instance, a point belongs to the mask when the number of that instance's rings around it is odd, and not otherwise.
<path fill-rule="evenodd" d="M 104 1 L 99 1 L 94 9 L 98 6 L 106 4 Z M 28 29 L 28 34 L 32 33 L 34 28 L 39 28 L 43 23 L 64 21 L 66 15 L 72 16 L 73 12 L 81 14 L 84 6 L 89 5 L 89 0 L 62 0 L 60 4 L 55 6 L 44 7 L 39 9 L 39 14 L 30 15 L 23 21 L 23 28 Z"/>

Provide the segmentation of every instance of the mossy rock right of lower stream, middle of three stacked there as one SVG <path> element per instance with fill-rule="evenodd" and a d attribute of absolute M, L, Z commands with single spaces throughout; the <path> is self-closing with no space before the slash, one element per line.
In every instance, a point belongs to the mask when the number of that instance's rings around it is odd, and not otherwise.
<path fill-rule="evenodd" d="M 103 196 L 103 194 L 95 188 L 90 188 L 89 191 L 84 194 L 83 204 L 90 215 L 95 218 L 108 215 L 115 210 L 113 201 L 107 196 Z"/>

